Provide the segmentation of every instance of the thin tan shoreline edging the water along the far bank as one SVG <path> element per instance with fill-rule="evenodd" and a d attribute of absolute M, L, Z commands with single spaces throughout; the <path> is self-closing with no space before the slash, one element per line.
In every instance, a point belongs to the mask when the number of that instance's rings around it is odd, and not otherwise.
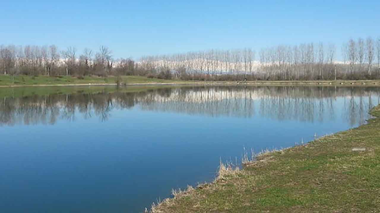
<path fill-rule="evenodd" d="M 159 86 L 159 85 L 268 85 L 268 86 L 380 86 L 380 80 L 337 80 L 337 81 L 174 81 L 172 83 L 122 83 L 119 86 Z M 117 86 L 117 83 L 78 83 L 78 84 L 34 84 L 0 85 L 0 88 L 46 86 Z"/>

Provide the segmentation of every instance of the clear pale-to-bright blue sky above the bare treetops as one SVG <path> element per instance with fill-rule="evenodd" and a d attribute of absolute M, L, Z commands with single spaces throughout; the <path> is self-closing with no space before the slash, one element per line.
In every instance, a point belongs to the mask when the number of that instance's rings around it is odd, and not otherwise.
<path fill-rule="evenodd" d="M 380 36 L 379 0 L 19 1 L 0 5 L 0 44 L 108 46 L 114 58 Z"/>

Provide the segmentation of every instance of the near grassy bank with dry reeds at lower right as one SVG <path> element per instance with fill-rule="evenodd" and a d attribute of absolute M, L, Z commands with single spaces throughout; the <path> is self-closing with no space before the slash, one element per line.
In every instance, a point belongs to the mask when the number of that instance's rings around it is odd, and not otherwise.
<path fill-rule="evenodd" d="M 260 155 L 240 171 L 222 166 L 213 183 L 175 193 L 153 212 L 378 212 L 380 106 L 371 114 L 366 125 Z"/>

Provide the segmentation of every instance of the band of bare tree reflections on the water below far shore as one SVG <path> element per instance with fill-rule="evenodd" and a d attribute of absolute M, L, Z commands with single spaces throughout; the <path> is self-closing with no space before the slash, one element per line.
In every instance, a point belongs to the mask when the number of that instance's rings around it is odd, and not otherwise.
<path fill-rule="evenodd" d="M 363 124 L 367 112 L 380 102 L 376 87 L 210 86 L 150 89 L 144 92 L 100 92 L 4 97 L 0 125 L 47 124 L 77 116 L 108 121 L 114 109 L 204 116 L 255 117 L 323 122 L 338 116 L 351 125 Z"/>

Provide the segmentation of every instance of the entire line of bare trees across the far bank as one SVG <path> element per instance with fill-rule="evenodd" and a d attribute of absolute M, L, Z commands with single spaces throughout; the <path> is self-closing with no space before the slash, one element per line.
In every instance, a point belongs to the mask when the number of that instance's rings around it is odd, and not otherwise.
<path fill-rule="evenodd" d="M 74 47 L 0 46 L 5 75 L 143 75 L 180 80 L 365 80 L 380 78 L 380 37 L 350 39 L 341 47 L 320 42 L 251 48 L 207 50 L 115 60 L 108 47 L 97 52 Z"/>

